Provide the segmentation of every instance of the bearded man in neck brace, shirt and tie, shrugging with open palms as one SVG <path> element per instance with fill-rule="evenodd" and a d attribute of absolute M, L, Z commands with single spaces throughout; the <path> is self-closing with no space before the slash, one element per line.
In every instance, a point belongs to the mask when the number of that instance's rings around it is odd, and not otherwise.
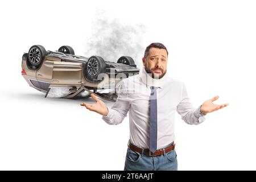
<path fill-rule="evenodd" d="M 166 77 L 168 51 L 152 43 L 144 52 L 143 68 L 119 82 L 118 98 L 112 108 L 92 94 L 96 104 L 83 103 L 86 109 L 102 114 L 110 125 L 118 125 L 129 111 L 130 140 L 125 170 L 177 170 L 175 151 L 175 111 L 189 125 L 205 120 L 204 115 L 228 104 L 213 104 L 218 96 L 194 108 L 181 81 Z"/>

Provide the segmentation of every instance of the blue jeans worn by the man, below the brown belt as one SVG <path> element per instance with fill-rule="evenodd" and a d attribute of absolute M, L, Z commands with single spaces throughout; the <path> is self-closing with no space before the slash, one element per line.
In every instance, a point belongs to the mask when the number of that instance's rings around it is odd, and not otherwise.
<path fill-rule="evenodd" d="M 177 171 L 175 149 L 159 156 L 147 156 L 127 148 L 125 171 Z"/>

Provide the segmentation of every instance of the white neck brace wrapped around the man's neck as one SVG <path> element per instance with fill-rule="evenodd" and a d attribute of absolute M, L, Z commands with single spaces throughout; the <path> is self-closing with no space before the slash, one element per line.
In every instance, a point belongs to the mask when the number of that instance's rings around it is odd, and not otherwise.
<path fill-rule="evenodd" d="M 163 76 L 160 79 L 152 78 L 147 72 L 144 66 L 142 66 L 142 69 L 139 71 L 139 76 L 141 77 L 141 80 L 144 84 L 147 85 L 147 87 L 150 86 L 157 86 L 160 89 L 163 88 L 163 84 L 166 80 L 166 75 Z"/>

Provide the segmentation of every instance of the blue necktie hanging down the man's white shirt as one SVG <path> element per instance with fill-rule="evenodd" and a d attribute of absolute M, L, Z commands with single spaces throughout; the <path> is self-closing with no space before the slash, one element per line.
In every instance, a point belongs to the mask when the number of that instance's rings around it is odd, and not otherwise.
<path fill-rule="evenodd" d="M 156 100 L 156 89 L 158 87 L 150 86 L 150 145 L 149 150 L 154 153 L 157 148 L 158 140 L 158 104 Z"/>

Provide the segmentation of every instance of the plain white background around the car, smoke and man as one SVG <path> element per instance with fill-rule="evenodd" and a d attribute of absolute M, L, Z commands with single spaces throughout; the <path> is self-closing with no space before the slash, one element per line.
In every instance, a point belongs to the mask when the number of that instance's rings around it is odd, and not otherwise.
<path fill-rule="evenodd" d="M 229 103 L 198 126 L 176 114 L 180 170 L 256 169 L 255 1 L 0 3 L 0 169 L 123 169 L 128 117 L 110 126 L 79 105 L 91 99 L 44 98 L 20 73 L 22 54 L 34 44 L 69 45 L 84 55 L 97 11 L 130 26 L 143 23 L 139 44 L 168 48 L 167 76 L 185 83 L 193 105 L 216 95 L 217 104 Z"/>

